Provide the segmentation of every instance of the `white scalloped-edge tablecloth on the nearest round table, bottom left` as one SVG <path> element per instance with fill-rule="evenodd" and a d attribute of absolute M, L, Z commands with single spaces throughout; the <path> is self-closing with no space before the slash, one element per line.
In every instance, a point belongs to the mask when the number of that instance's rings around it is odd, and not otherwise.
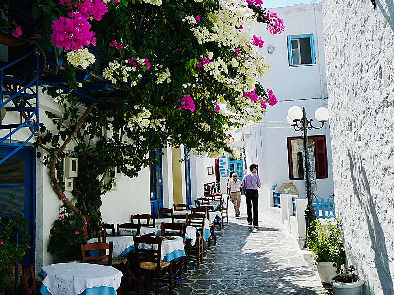
<path fill-rule="evenodd" d="M 68 262 L 41 268 L 42 283 L 52 295 L 75 295 L 92 287 L 119 288 L 122 272 L 97 264 Z"/>

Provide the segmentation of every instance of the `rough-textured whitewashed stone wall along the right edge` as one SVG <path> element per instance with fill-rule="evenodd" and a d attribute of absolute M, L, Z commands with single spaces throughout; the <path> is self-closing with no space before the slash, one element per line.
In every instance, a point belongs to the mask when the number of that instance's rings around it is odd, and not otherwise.
<path fill-rule="evenodd" d="M 335 201 L 366 294 L 394 294 L 394 4 L 323 0 Z M 391 18 L 391 19 L 390 19 Z"/>

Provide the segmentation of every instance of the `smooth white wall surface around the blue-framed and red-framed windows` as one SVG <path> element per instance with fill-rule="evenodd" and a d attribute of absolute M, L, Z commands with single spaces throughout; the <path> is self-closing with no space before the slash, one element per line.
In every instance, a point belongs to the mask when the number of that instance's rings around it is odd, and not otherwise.
<path fill-rule="evenodd" d="M 278 188 L 284 182 L 293 182 L 301 198 L 306 197 L 304 180 L 289 180 L 287 137 L 301 136 L 286 121 L 287 111 L 292 106 L 305 107 L 309 119 L 316 123 L 315 110 L 328 107 L 326 75 L 324 65 L 323 17 L 322 4 L 295 5 L 270 9 L 283 18 L 286 30 L 279 35 L 271 35 L 264 25 L 255 23 L 250 28 L 250 35 L 262 36 L 265 41 L 259 53 L 266 56 L 270 64 L 263 76 L 264 88 L 274 91 L 278 103 L 270 107 L 262 122 L 250 128 L 244 128 L 243 140 L 246 147 L 247 170 L 251 163 L 258 164 L 262 187 L 259 190 L 259 208 L 268 214 L 269 192 L 273 184 Z M 314 34 L 316 65 L 289 67 L 287 36 Z M 268 45 L 275 50 L 269 54 Z M 333 193 L 331 165 L 331 142 L 329 122 L 322 129 L 310 130 L 308 135 L 325 135 L 328 161 L 328 178 L 317 179 L 315 193 L 327 198 Z"/>

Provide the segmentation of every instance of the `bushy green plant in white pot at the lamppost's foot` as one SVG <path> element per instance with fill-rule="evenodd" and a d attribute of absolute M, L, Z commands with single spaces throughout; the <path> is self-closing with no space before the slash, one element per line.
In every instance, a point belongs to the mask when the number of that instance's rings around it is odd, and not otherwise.
<path fill-rule="evenodd" d="M 314 221 L 315 230 L 308 238 L 308 247 L 313 253 L 320 281 L 330 285 L 329 277 L 335 274 L 336 264 L 345 263 L 345 246 L 342 241 L 339 220 L 327 221 L 323 226 L 320 220 Z M 335 264 L 335 265 L 334 265 Z"/>

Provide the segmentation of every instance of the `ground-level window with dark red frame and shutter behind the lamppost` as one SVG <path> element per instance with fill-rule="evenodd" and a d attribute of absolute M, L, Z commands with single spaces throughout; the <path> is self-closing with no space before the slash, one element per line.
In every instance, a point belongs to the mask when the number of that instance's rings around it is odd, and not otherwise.
<path fill-rule="evenodd" d="M 309 136 L 308 147 L 314 149 L 316 179 L 328 178 L 326 137 Z M 287 138 L 290 180 L 304 179 L 303 148 L 302 137 Z"/>

